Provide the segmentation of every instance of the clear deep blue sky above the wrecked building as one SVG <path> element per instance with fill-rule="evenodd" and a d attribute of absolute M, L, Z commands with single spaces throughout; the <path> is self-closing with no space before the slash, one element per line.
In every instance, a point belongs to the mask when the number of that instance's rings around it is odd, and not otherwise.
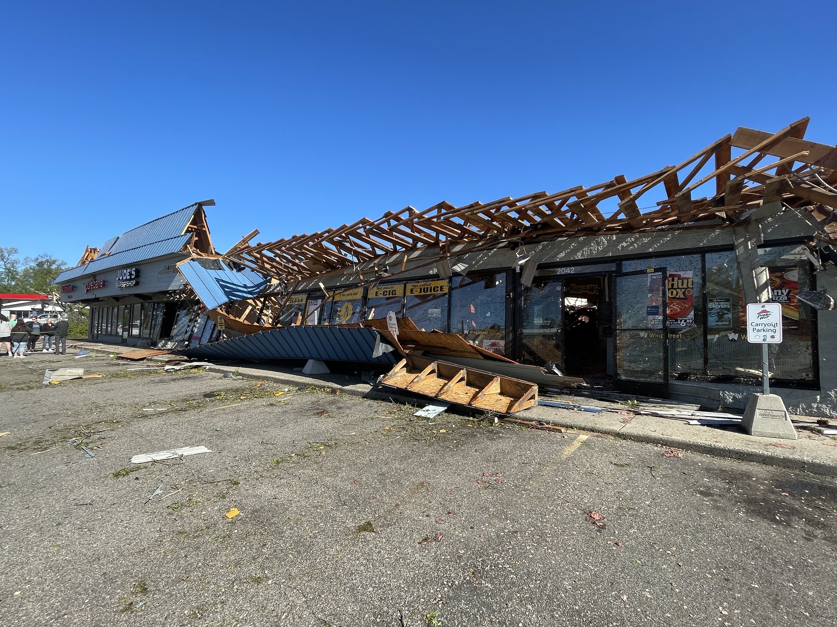
<path fill-rule="evenodd" d="M 837 143 L 833 2 L 4 3 L 0 246 L 73 265 L 193 201 L 216 247 Z"/>

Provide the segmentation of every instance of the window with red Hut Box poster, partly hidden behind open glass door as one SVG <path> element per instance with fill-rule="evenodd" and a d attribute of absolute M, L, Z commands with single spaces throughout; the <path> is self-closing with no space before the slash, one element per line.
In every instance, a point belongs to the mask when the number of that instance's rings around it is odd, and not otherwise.
<path fill-rule="evenodd" d="M 662 266 L 668 273 L 665 284 L 669 302 L 669 372 L 700 374 L 703 372 L 703 325 L 706 324 L 701 256 L 634 259 L 622 262 L 622 271 Z"/>

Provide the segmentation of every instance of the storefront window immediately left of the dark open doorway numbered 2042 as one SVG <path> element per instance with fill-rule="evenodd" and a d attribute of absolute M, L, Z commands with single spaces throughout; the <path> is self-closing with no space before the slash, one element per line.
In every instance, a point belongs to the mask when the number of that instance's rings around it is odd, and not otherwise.
<path fill-rule="evenodd" d="M 562 280 L 536 278 L 523 290 L 523 363 L 562 364 Z"/>

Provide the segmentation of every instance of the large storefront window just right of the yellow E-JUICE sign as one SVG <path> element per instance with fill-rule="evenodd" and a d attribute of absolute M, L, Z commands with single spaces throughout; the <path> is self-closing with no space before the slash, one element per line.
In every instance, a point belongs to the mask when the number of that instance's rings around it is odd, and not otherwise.
<path fill-rule="evenodd" d="M 506 273 L 454 278 L 450 324 L 470 344 L 506 354 Z"/>

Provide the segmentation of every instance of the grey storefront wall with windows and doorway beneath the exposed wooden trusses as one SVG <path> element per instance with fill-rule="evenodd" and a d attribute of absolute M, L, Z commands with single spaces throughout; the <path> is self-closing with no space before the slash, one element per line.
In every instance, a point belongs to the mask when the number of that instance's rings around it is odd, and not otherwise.
<path fill-rule="evenodd" d="M 837 370 L 824 356 L 834 349 L 834 314 L 796 298 L 837 288 L 837 272 L 812 263 L 804 244 L 814 229 L 804 210 L 771 218 L 763 231 L 758 255 L 784 314 L 771 385 L 788 407 L 837 415 Z M 434 251 L 415 252 L 398 281 L 382 276 L 369 285 L 358 267 L 300 283 L 280 322 L 355 324 L 392 311 L 521 363 L 612 377 L 629 393 L 742 407 L 759 384 L 761 350 L 747 343 L 733 248 L 731 229 L 568 237 L 463 250 L 449 260 L 461 272 L 448 277 L 440 276 L 444 265 L 425 261 Z"/>

